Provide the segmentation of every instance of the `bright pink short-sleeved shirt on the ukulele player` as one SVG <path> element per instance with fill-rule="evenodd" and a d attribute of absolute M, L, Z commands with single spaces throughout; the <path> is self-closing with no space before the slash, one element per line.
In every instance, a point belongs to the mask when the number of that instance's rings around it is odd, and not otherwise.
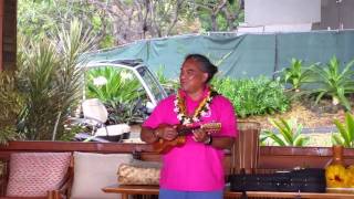
<path fill-rule="evenodd" d="M 179 124 L 174 112 L 176 96 L 171 95 L 163 100 L 145 121 L 143 126 L 156 128 L 159 124 Z M 194 113 L 199 105 L 189 96 L 186 97 L 188 113 Z M 217 95 L 210 104 L 210 114 L 200 119 L 201 124 L 210 122 L 221 123 L 221 130 L 217 136 L 236 137 L 237 123 L 232 104 L 223 96 Z M 181 147 L 174 147 L 163 156 L 163 169 L 160 174 L 160 187 L 180 191 L 214 191 L 225 187 L 223 150 L 212 146 L 197 143 L 191 135 Z"/>

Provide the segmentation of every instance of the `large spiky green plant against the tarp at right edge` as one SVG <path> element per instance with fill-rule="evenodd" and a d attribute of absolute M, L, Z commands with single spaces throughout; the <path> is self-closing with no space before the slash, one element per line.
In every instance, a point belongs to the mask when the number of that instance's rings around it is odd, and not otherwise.
<path fill-rule="evenodd" d="M 311 69 L 316 88 L 308 93 L 316 95 L 315 104 L 326 95 L 332 97 L 333 105 L 342 104 L 345 109 L 352 109 L 346 94 L 354 93 L 353 64 L 354 60 L 348 62 L 343 71 L 340 71 L 340 61 L 336 56 L 333 56 L 326 67 L 315 66 Z"/>

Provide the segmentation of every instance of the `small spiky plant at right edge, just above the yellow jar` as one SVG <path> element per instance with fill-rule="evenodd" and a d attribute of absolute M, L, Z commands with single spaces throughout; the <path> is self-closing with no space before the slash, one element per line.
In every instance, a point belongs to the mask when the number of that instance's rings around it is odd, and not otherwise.
<path fill-rule="evenodd" d="M 339 134 L 332 135 L 332 142 L 345 147 L 354 147 L 354 116 L 348 112 L 345 113 L 345 123 L 334 119 Z"/>

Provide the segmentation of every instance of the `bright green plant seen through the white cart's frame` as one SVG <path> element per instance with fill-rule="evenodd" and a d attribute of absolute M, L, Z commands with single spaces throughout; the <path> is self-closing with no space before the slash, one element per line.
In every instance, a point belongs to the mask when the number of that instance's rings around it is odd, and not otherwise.
<path fill-rule="evenodd" d="M 113 124 L 129 122 L 136 114 L 135 103 L 143 97 L 137 78 L 127 70 L 98 67 L 87 71 L 86 94 L 100 98 L 107 107 Z"/>

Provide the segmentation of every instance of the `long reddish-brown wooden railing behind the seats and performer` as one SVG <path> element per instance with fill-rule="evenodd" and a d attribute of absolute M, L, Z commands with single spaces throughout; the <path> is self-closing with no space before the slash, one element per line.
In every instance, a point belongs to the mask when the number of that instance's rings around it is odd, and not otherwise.
<path fill-rule="evenodd" d="M 159 155 L 153 147 L 146 144 L 123 143 L 80 143 L 80 142 L 10 142 L 9 145 L 0 145 L 0 159 L 8 157 L 13 151 L 85 151 L 85 153 L 132 153 L 143 151 L 140 159 L 159 160 Z M 354 165 L 354 149 L 344 149 L 346 165 Z M 229 172 L 230 154 L 226 156 L 225 169 Z M 261 146 L 259 169 L 292 169 L 294 167 L 323 168 L 332 158 L 331 147 L 275 147 Z"/>

